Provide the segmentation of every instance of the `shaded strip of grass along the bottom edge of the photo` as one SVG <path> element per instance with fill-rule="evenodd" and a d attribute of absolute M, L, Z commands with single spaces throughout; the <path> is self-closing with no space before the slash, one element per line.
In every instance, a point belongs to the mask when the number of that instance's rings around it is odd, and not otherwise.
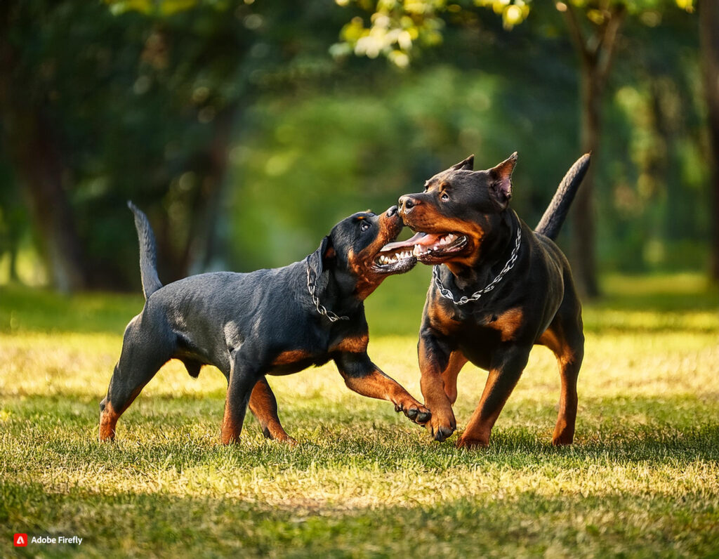
<path fill-rule="evenodd" d="M 700 493 L 610 491 L 505 495 L 386 506 L 342 506 L 299 497 L 262 501 L 0 481 L 7 532 L 78 535 L 81 547 L 31 544 L 5 556 L 153 557 L 675 557 L 715 553 L 716 501 Z M 631 542 L 631 545 L 629 544 Z"/>

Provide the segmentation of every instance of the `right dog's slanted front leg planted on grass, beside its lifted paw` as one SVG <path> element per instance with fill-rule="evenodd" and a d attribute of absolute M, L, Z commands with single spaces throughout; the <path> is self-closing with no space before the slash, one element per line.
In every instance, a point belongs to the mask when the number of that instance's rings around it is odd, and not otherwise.
<path fill-rule="evenodd" d="M 489 445 L 492 427 L 527 365 L 529 349 L 531 347 L 507 345 L 495 352 L 480 404 L 459 437 L 458 447 Z"/>

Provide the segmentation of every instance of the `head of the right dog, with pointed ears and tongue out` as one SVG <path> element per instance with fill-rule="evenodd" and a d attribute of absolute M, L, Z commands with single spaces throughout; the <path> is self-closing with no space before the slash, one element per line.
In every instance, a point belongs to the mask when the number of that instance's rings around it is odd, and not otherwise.
<path fill-rule="evenodd" d="M 482 242 L 497 230 L 512 197 L 513 153 L 486 171 L 472 171 L 470 155 L 425 183 L 423 192 L 400 198 L 400 216 L 417 234 L 392 250 L 411 250 L 424 264 L 474 266 Z"/>

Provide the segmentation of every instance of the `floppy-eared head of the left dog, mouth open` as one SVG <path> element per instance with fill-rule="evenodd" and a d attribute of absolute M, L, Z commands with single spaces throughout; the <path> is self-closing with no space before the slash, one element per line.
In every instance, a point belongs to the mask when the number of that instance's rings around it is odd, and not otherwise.
<path fill-rule="evenodd" d="M 397 206 L 380 215 L 359 212 L 342 219 L 310 257 L 317 277 L 325 269 L 346 272 L 355 283 L 354 295 L 360 301 L 369 296 L 383 279 L 410 271 L 417 263 L 411 250 L 382 251 L 402 231 Z"/>

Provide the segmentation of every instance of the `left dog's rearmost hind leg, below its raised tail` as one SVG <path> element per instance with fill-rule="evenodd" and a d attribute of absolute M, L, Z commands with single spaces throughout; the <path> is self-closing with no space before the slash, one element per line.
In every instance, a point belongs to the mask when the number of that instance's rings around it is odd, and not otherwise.
<path fill-rule="evenodd" d="M 122 352 L 110 379 L 107 396 L 100 403 L 100 440 L 114 440 L 117 420 L 137 398 L 142 388 L 172 357 L 169 340 L 143 332 L 136 317 L 125 330 Z"/>

